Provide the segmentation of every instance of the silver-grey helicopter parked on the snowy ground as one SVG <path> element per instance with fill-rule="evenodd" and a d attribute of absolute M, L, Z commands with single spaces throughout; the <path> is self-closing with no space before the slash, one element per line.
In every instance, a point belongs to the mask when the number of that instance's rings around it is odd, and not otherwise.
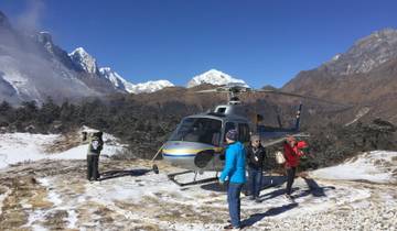
<path fill-rule="evenodd" d="M 225 147 L 227 145 L 225 135 L 227 131 L 232 129 L 238 131 L 238 141 L 242 143 L 249 142 L 253 133 L 258 134 L 265 147 L 283 142 L 287 135 L 309 136 L 308 134 L 300 133 L 299 130 L 302 103 L 298 106 L 293 127 L 282 128 L 279 118 L 279 128 L 266 127 L 259 124 L 262 119 L 260 114 L 255 114 L 253 118 L 253 112 L 248 110 L 249 107 L 240 101 L 239 95 L 247 92 L 266 92 L 309 99 L 313 97 L 273 89 L 258 90 L 242 84 L 229 84 L 196 92 L 227 94 L 227 103 L 216 106 L 214 110 L 205 113 L 183 118 L 169 140 L 152 158 L 152 162 L 154 162 L 157 156 L 162 154 L 163 160 L 171 165 L 187 169 L 187 172 L 194 172 L 194 182 L 197 173 L 202 174 L 205 170 L 210 170 L 216 172 L 217 175 L 217 173 L 223 169 L 225 164 Z M 318 99 L 315 98 L 315 100 Z M 159 173 L 155 164 L 153 164 L 152 168 L 154 173 Z M 179 174 L 169 175 L 169 178 L 175 182 L 174 177 L 176 175 Z"/>

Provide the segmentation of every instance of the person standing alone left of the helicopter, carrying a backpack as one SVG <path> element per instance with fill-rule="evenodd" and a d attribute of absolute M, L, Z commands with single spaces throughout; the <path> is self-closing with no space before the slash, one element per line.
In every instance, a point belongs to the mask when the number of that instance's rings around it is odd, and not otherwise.
<path fill-rule="evenodd" d="M 87 179 L 88 180 L 98 180 L 99 170 L 98 162 L 99 154 L 104 147 L 103 132 L 95 132 L 90 135 L 88 151 L 87 151 Z"/>

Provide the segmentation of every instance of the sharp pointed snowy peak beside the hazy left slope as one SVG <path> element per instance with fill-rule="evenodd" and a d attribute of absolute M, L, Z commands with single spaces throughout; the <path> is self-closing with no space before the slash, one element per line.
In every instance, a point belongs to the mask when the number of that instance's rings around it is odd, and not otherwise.
<path fill-rule="evenodd" d="M 69 54 L 73 63 L 82 70 L 95 74 L 98 72 L 96 59 L 88 54 L 83 47 L 78 47 Z"/>

